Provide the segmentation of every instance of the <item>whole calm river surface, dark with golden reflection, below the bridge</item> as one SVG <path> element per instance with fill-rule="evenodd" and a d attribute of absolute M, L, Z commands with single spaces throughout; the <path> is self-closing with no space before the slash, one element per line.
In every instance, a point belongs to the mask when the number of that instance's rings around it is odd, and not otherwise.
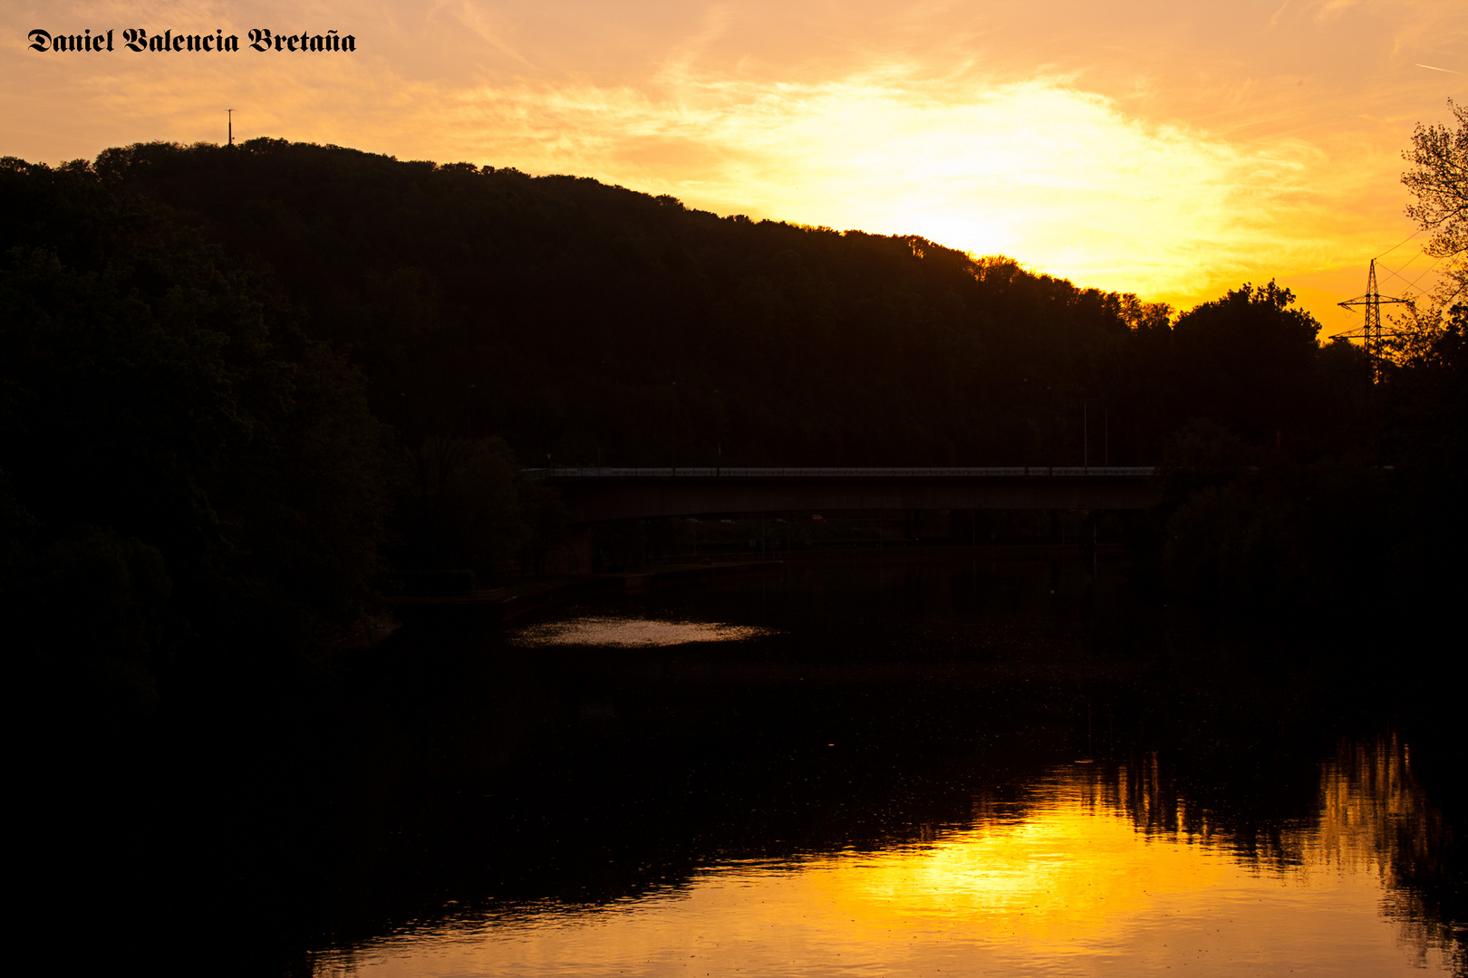
<path fill-rule="evenodd" d="M 1465 974 L 1450 698 L 1333 642 L 973 560 L 404 633 L 301 768 L 277 960 Z"/>

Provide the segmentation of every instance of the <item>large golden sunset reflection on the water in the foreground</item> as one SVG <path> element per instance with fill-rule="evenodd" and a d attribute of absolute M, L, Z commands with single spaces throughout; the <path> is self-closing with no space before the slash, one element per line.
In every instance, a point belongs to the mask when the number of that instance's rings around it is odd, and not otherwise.
<path fill-rule="evenodd" d="M 323 956 L 317 974 L 1450 974 L 1450 937 L 1395 883 L 1414 858 L 1402 840 L 1431 821 L 1405 758 L 1343 749 L 1318 818 L 1262 845 L 1169 799 L 1155 762 L 1063 767 L 918 842 L 439 922 Z"/>

